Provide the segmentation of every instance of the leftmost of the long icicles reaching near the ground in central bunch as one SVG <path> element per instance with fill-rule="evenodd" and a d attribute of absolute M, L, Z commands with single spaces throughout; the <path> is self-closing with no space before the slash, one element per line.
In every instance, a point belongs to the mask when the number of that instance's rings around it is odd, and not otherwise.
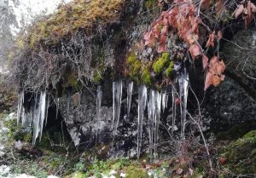
<path fill-rule="evenodd" d="M 138 116 L 137 116 L 137 158 L 140 157 L 143 137 L 143 118 L 147 105 L 147 87 L 145 85 L 138 88 Z"/>

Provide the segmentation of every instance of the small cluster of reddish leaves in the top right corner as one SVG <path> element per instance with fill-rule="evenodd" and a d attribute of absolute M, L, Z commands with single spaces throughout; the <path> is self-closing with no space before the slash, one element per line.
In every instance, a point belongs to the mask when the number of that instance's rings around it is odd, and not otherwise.
<path fill-rule="evenodd" d="M 242 4 L 239 4 L 236 8 L 236 11 L 232 16 L 235 16 L 237 19 L 242 15 L 242 19 L 245 21 L 245 26 L 249 26 L 250 22 L 253 20 L 253 13 L 256 13 L 256 6 L 251 1 L 244 1 Z"/>

